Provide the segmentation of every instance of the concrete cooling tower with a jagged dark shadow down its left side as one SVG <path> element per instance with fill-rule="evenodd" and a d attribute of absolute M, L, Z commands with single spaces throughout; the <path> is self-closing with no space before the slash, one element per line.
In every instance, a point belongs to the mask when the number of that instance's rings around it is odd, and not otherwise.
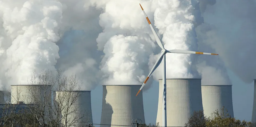
<path fill-rule="evenodd" d="M 130 126 L 134 122 L 132 119 L 140 119 L 145 123 L 142 91 L 136 96 L 140 87 L 141 85 L 103 85 L 101 124 L 107 125 L 100 127 Z"/>

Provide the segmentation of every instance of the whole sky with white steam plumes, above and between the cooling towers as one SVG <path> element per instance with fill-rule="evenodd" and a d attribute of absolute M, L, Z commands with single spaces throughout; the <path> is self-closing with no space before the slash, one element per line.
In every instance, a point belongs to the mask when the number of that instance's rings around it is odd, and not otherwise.
<path fill-rule="evenodd" d="M 166 78 L 232 84 L 234 116 L 251 120 L 255 0 L 14 1 L 0 0 L 0 87 L 26 84 L 34 70 L 74 73 L 92 90 L 99 124 L 101 85 L 142 84 L 160 55 L 141 3 L 167 50 L 219 54 L 167 54 Z M 146 123 L 156 120 L 161 71 L 143 88 Z"/>

